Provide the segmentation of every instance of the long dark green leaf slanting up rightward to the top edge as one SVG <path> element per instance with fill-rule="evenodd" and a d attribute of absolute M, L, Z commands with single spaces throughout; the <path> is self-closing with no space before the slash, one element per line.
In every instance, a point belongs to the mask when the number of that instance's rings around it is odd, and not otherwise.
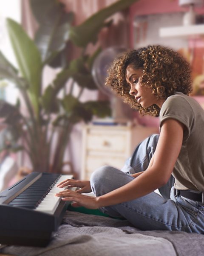
<path fill-rule="evenodd" d="M 119 12 L 122 9 L 129 7 L 131 4 L 138 0 L 119 0 L 116 3 L 96 12 L 90 18 L 85 20 L 81 25 L 71 27 L 70 39 L 79 47 L 85 47 L 88 43 L 96 42 L 96 36 L 103 26 L 105 20 L 113 15 L 115 12 Z"/>

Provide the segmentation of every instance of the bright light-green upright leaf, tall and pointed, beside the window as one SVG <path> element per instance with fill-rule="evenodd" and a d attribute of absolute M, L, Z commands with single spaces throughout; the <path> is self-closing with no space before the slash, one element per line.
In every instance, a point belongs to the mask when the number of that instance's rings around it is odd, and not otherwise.
<path fill-rule="evenodd" d="M 40 52 L 20 24 L 7 18 L 7 28 L 20 72 L 28 81 L 31 102 L 38 113 L 42 72 Z"/>

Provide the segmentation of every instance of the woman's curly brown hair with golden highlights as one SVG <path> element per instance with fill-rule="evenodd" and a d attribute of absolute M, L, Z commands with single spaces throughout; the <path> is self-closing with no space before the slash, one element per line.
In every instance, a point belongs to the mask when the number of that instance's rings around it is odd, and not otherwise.
<path fill-rule="evenodd" d="M 109 67 L 105 84 L 143 115 L 159 116 L 160 108 L 157 105 L 143 108 L 129 94 L 125 73 L 130 64 L 142 69 L 140 84 L 150 87 L 157 99 L 167 99 L 176 92 L 189 95 L 192 91 L 190 64 L 178 52 L 160 45 L 126 51 Z"/>

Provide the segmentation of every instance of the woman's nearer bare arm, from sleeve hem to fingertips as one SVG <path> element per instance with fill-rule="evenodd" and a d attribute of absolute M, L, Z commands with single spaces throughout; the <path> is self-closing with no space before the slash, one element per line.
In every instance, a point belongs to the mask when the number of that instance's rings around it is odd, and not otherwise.
<path fill-rule="evenodd" d="M 67 195 L 65 192 L 61 192 L 60 195 L 67 198 L 64 200 L 72 200 L 77 202 L 77 205 L 91 208 L 120 204 L 147 195 L 169 180 L 181 150 L 182 140 L 183 125 L 175 119 L 167 119 L 162 124 L 156 151 L 147 170 L 134 180 L 105 195 L 92 199 L 87 198 L 86 200 L 82 198 L 82 195 L 75 197 L 73 193 Z"/>

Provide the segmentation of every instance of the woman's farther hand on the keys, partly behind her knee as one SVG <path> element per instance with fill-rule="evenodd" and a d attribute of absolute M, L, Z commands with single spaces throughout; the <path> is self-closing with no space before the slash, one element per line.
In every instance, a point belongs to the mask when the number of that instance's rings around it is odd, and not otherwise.
<path fill-rule="evenodd" d="M 57 184 L 57 186 L 59 188 L 63 188 L 65 186 L 68 186 L 68 187 L 79 187 L 80 189 L 76 190 L 76 192 L 80 193 L 80 194 L 81 193 L 90 193 L 90 192 L 92 192 L 89 180 L 81 181 L 81 180 L 67 179 L 67 180 L 63 180 L 62 182 Z"/>

